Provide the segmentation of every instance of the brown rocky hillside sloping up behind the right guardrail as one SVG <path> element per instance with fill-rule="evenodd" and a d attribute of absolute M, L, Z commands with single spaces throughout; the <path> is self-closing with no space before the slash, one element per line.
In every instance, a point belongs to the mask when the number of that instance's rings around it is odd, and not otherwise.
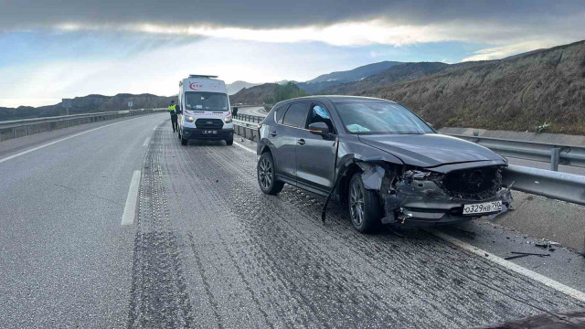
<path fill-rule="evenodd" d="M 399 101 L 436 127 L 585 134 L 585 41 L 344 91 Z"/>

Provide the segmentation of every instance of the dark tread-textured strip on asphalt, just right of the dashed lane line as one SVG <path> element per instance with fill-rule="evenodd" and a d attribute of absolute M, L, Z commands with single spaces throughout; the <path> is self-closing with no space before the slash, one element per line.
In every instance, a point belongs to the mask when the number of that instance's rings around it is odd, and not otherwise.
<path fill-rule="evenodd" d="M 160 133 L 154 133 L 154 141 Z M 169 220 L 160 149 L 161 143 L 150 143 L 144 157 L 128 328 L 193 326 L 193 306 L 181 261 L 182 241 Z"/>

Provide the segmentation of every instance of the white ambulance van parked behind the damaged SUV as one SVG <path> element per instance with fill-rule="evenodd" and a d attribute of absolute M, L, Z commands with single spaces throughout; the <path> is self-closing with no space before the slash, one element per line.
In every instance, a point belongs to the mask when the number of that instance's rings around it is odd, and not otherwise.
<path fill-rule="evenodd" d="M 190 75 L 179 82 L 178 113 L 181 144 L 189 140 L 234 143 L 228 89 L 217 76 Z"/>

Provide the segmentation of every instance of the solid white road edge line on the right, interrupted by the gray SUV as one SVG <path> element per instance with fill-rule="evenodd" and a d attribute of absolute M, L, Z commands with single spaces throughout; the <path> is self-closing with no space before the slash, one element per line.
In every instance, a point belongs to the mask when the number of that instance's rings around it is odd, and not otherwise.
<path fill-rule="evenodd" d="M 239 143 L 234 142 L 234 144 L 238 145 L 239 147 L 245 149 L 246 151 L 249 151 L 251 153 L 256 154 L 256 151 L 253 151 L 252 149 L 250 149 L 247 146 L 241 145 Z M 530 271 L 527 268 L 523 268 L 520 265 L 517 265 L 515 263 L 513 263 L 512 261 L 509 260 L 505 260 L 503 258 L 497 257 L 494 254 L 485 251 L 484 249 L 479 249 L 477 247 L 474 247 L 472 245 L 470 245 L 467 242 L 464 242 L 460 239 L 456 239 L 453 238 L 452 236 L 445 234 L 443 232 L 439 232 L 436 230 L 427 230 L 429 233 L 431 233 L 432 235 L 434 235 L 435 237 L 439 238 L 439 239 L 443 239 L 461 249 L 467 250 L 481 258 L 483 258 L 484 260 L 490 260 L 495 262 L 496 264 L 505 267 L 506 269 L 510 270 L 510 271 L 515 271 L 518 274 L 524 275 L 534 281 L 538 281 L 552 289 L 557 290 L 558 292 L 563 292 L 567 295 L 569 295 L 570 297 L 573 297 L 577 300 L 579 300 L 580 302 L 585 302 L 585 292 L 580 292 L 576 289 L 573 289 L 569 286 L 566 286 L 558 281 L 554 281 L 542 274 L 538 274 L 536 271 Z M 486 256 L 487 255 L 487 256 Z"/>

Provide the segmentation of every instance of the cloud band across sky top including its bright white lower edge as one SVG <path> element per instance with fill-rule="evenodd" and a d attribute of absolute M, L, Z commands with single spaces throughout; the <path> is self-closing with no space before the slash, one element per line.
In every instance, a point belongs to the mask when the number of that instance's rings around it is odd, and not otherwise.
<path fill-rule="evenodd" d="M 538 37 L 577 40 L 585 29 L 582 0 L 61 0 L 58 5 L 29 0 L 26 6 L 8 1 L 1 7 L 0 30 L 122 30 L 336 46 L 442 41 L 501 46 Z"/>

